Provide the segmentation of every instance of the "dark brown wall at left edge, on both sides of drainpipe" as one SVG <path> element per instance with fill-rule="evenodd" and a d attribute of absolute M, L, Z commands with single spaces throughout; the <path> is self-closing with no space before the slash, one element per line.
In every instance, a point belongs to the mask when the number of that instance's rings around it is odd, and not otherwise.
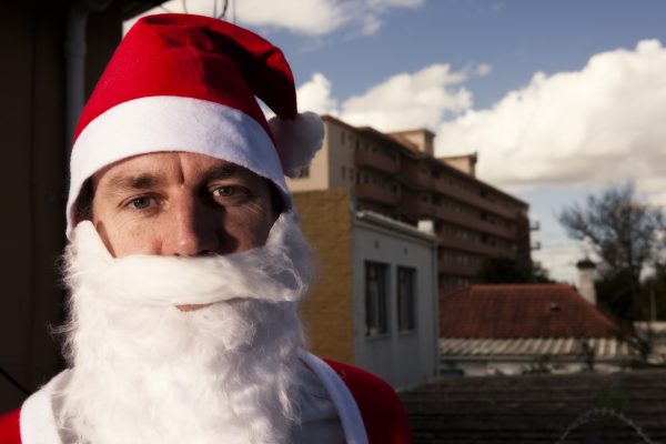
<path fill-rule="evenodd" d="M 63 52 L 68 3 L 0 6 L 0 367 L 28 391 L 63 366 L 49 327 L 63 317 L 57 260 L 64 245 L 69 160 Z M 87 75 L 94 81 L 120 41 L 120 2 L 91 17 L 89 26 Z M 0 376 L 0 413 L 18 407 L 24 397 Z"/>

